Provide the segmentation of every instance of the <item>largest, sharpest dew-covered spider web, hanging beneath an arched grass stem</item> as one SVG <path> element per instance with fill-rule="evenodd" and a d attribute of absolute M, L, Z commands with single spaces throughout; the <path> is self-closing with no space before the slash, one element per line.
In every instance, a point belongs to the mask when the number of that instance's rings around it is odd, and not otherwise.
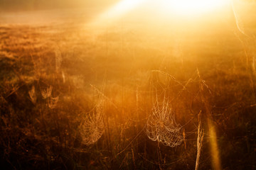
<path fill-rule="evenodd" d="M 152 111 L 146 123 L 146 135 L 150 140 L 169 147 L 181 145 L 183 128 L 176 123 L 168 92 L 164 88 L 154 91 Z"/>

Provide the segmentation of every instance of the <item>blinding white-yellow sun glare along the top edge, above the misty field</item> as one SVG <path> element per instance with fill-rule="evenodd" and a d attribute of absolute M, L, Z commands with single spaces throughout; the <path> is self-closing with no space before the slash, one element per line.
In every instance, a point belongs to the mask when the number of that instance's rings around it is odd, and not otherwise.
<path fill-rule="evenodd" d="M 137 7 L 142 7 L 139 8 L 141 13 L 149 13 L 149 17 L 151 13 L 159 13 L 161 19 L 166 18 L 166 16 L 178 16 L 178 18 L 183 16 L 202 16 L 203 13 L 209 13 L 225 6 L 229 1 L 230 0 L 122 0 L 97 16 L 92 24 L 113 23 Z M 146 10 L 144 11 L 144 9 L 146 9 L 144 7 L 151 8 L 151 13 Z M 141 15 L 141 13 L 138 15 Z"/>

